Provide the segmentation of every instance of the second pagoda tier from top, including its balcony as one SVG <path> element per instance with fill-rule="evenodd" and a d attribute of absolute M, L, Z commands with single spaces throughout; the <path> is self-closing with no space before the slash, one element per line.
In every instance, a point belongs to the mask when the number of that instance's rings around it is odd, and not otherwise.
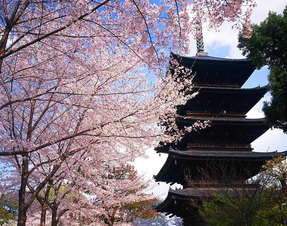
<path fill-rule="evenodd" d="M 199 93 L 178 107 L 179 115 L 245 118 L 245 114 L 267 92 L 267 86 L 247 89 L 195 86 L 195 90 Z"/>

